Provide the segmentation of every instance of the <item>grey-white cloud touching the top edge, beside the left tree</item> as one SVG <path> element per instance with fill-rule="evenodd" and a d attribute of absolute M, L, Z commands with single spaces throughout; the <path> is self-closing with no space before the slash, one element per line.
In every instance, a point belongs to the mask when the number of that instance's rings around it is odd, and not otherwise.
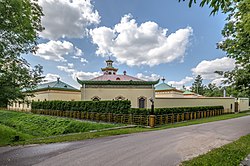
<path fill-rule="evenodd" d="M 89 26 L 100 22 L 91 0 L 39 0 L 39 5 L 45 27 L 40 36 L 46 39 L 82 38 Z"/>

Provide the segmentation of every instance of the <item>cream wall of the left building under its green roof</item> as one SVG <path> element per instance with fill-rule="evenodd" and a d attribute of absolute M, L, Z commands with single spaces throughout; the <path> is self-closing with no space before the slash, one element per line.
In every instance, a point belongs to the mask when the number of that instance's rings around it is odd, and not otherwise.
<path fill-rule="evenodd" d="M 62 101 L 80 101 L 81 100 L 81 92 L 74 91 L 58 91 L 58 90 L 50 90 L 50 91 L 40 91 L 35 92 L 34 97 L 28 97 L 28 101 L 16 101 L 12 105 L 8 106 L 8 109 L 12 110 L 22 110 L 22 111 L 30 111 L 31 110 L 31 102 L 32 101 L 51 101 L 51 100 L 62 100 Z"/>

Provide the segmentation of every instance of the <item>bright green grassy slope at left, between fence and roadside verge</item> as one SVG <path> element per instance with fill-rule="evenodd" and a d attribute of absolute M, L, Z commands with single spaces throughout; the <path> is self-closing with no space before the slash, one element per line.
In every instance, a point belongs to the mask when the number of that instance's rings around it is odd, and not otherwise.
<path fill-rule="evenodd" d="M 121 126 L 0 110 L 0 145 Z"/>

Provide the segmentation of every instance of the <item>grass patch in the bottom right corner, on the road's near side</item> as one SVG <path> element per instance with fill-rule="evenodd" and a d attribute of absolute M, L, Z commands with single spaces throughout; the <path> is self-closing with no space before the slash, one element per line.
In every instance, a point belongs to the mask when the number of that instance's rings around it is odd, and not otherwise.
<path fill-rule="evenodd" d="M 250 135 L 214 149 L 192 160 L 184 161 L 183 166 L 236 166 L 250 154 Z"/>

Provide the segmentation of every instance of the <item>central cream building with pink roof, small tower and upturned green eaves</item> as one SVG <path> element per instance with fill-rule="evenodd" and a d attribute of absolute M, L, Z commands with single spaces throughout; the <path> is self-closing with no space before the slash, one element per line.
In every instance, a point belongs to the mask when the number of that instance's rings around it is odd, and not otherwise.
<path fill-rule="evenodd" d="M 113 61 L 107 60 L 102 68 L 103 75 L 91 80 L 79 80 L 81 84 L 81 100 L 130 100 L 132 108 L 150 108 L 150 98 L 154 98 L 154 85 L 159 82 L 144 81 L 127 75 L 117 74 Z"/>

